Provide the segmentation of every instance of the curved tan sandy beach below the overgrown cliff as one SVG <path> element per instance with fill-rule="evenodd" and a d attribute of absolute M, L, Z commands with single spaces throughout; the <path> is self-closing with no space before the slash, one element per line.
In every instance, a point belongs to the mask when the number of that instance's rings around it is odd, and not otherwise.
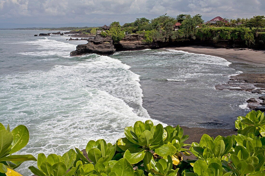
<path fill-rule="evenodd" d="M 225 49 L 225 48 L 202 47 L 202 46 L 166 47 L 166 48 L 182 50 L 189 53 L 218 56 L 228 61 L 265 65 L 265 50 L 253 50 L 245 48 Z"/>

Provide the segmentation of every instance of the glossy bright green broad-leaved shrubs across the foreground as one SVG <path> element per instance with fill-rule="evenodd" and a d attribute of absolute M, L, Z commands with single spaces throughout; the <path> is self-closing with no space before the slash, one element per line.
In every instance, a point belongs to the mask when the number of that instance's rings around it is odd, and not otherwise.
<path fill-rule="evenodd" d="M 0 124 L 0 175 L 16 174 L 23 161 L 37 161 L 29 169 L 39 176 L 261 176 L 265 173 L 265 118 L 260 111 L 251 111 L 235 122 L 237 135 L 204 134 L 199 143 L 185 144 L 189 138 L 179 126 L 163 127 L 148 120 L 135 122 L 124 129 L 125 137 L 115 144 L 103 139 L 89 141 L 87 158 L 75 148 L 62 156 L 38 154 L 11 155 L 29 140 L 25 126 L 9 132 Z M 190 146 L 189 148 L 185 146 Z M 191 155 L 195 160 L 183 160 Z M 11 163 L 12 161 L 12 163 Z M 4 174 L 6 173 L 6 174 Z"/>

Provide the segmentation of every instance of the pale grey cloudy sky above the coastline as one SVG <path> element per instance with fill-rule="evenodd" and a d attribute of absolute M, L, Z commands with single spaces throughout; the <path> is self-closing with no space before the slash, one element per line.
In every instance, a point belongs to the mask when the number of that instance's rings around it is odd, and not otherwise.
<path fill-rule="evenodd" d="M 265 0 L 0 0 L 0 23 L 132 22 L 167 13 L 237 18 L 265 15 Z"/>

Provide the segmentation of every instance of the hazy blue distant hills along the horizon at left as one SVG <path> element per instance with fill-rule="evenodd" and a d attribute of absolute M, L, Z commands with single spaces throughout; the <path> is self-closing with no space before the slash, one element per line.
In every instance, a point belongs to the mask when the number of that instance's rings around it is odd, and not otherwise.
<path fill-rule="evenodd" d="M 17 24 L 17 23 L 0 23 L 0 29 L 15 29 L 15 28 L 32 28 L 32 27 L 43 27 L 43 28 L 52 28 L 52 27 L 97 27 L 103 26 L 105 24 L 97 23 L 67 23 L 67 24 Z"/>

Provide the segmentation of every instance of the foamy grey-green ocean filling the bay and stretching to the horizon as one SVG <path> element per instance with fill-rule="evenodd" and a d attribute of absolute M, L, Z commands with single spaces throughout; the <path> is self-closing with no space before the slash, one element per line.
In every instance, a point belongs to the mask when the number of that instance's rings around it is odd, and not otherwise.
<path fill-rule="evenodd" d="M 265 66 L 173 49 L 70 57 L 78 44 L 52 31 L 0 30 L 0 122 L 30 133 L 19 154 L 63 154 L 89 140 L 115 143 L 123 128 L 155 124 L 234 128 L 257 95 L 216 90 L 229 76 Z M 57 32 L 57 31 L 54 31 Z M 18 168 L 31 175 L 26 162 Z"/>

